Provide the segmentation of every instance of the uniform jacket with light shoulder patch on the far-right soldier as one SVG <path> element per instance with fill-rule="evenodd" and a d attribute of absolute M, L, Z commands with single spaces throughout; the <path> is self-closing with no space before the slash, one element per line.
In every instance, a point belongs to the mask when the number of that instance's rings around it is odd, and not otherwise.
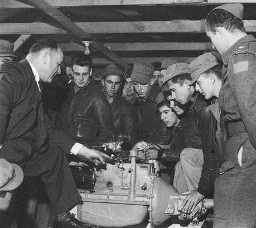
<path fill-rule="evenodd" d="M 224 76 L 219 96 L 228 137 L 221 172 L 233 168 L 242 145 L 256 148 L 256 40 L 239 39 L 223 55 Z M 249 141 L 247 139 L 249 138 Z"/>

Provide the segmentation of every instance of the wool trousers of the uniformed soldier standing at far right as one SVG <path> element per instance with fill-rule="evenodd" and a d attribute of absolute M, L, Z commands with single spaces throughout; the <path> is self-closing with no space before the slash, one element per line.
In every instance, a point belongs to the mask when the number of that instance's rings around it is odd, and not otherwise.
<path fill-rule="evenodd" d="M 229 139 L 225 157 L 215 185 L 213 227 L 255 228 L 256 149 L 246 133 Z"/>

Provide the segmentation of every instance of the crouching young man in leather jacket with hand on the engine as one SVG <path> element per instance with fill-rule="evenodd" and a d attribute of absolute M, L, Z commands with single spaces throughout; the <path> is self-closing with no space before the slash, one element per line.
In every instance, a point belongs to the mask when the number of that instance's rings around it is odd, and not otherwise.
<path fill-rule="evenodd" d="M 169 101 L 162 92 L 156 97 L 156 109 L 160 112 L 162 122 L 173 132 L 173 139 L 168 148 L 161 148 L 154 153 L 146 150 L 147 160 L 157 159 L 167 169 L 160 169 L 160 173 L 170 174 L 170 184 L 173 185 L 174 166 L 180 161 L 180 154 L 185 148 L 201 149 L 201 135 L 192 116 L 177 115 L 174 111 L 174 101 Z"/>

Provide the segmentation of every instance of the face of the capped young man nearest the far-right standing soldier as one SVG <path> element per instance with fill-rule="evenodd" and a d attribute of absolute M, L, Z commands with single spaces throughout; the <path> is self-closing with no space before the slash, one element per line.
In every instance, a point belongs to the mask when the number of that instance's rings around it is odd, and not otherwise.
<path fill-rule="evenodd" d="M 210 99 L 214 96 L 214 83 L 212 77 L 209 75 L 201 74 L 196 81 L 196 91 L 202 93 L 205 99 Z"/>

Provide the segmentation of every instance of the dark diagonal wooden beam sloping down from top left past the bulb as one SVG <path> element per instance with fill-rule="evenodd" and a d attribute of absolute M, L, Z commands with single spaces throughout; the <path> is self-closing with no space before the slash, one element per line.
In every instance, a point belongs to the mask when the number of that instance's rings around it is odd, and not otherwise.
<path fill-rule="evenodd" d="M 58 9 L 56 9 L 54 6 L 50 5 L 45 0 L 28 0 L 33 5 L 38 7 L 39 9 L 43 10 L 46 14 L 50 15 L 50 17 L 54 18 L 56 21 L 58 21 L 62 26 L 66 27 L 72 34 L 78 36 L 81 39 L 92 39 L 92 36 L 86 32 L 83 28 L 79 27 L 76 23 L 74 23 L 70 18 L 68 18 L 66 15 L 61 13 Z M 24 34 L 24 33 L 22 33 Z M 116 64 L 118 64 L 121 67 L 127 67 L 128 64 L 125 63 L 122 59 L 119 58 L 116 54 L 114 54 L 112 51 L 110 51 L 108 48 L 106 48 L 103 44 L 98 42 L 96 39 L 92 39 L 92 46 L 96 50 L 99 50 L 103 52 L 104 55 L 108 56 L 108 58 L 112 59 Z"/>

